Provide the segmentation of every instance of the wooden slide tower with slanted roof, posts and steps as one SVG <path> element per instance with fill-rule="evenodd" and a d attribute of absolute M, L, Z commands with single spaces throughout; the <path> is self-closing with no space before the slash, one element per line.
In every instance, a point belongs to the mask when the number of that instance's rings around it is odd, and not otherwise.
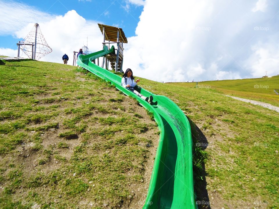
<path fill-rule="evenodd" d="M 112 70 L 115 72 L 122 72 L 122 66 L 123 66 L 123 44 L 127 44 L 127 38 L 122 30 L 122 28 L 117 28 L 113 26 L 103 25 L 99 24 L 99 28 L 103 34 L 104 40 L 103 40 L 103 47 L 108 44 L 108 48 L 110 49 L 110 44 L 116 44 L 117 47 L 115 50 L 117 53 L 115 55 L 110 54 L 106 55 L 105 59 L 103 59 L 102 67 L 108 69 L 108 61 L 110 62 L 110 66 Z M 108 41 L 108 42 L 105 42 Z"/>

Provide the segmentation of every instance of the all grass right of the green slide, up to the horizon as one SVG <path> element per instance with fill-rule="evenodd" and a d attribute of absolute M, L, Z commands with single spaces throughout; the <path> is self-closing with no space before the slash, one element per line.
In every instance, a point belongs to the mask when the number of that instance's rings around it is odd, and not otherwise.
<path fill-rule="evenodd" d="M 268 79 L 247 80 L 248 84 L 246 79 L 198 83 L 211 88 L 141 79 L 142 87 L 172 99 L 201 130 L 193 135 L 198 140 L 194 158 L 198 147 L 205 148 L 204 154 L 210 157 L 204 160 L 204 176 L 196 179 L 196 200 L 204 203 L 199 208 L 279 208 L 279 113 L 219 93 L 234 92 L 239 97 L 247 93 L 248 98 L 275 105 L 271 89 L 279 77 Z M 269 89 L 254 89 L 256 84 L 269 85 Z M 194 165 L 199 167 L 196 161 Z M 194 170 L 199 168 L 194 166 Z M 206 192 L 201 191 L 202 182 Z"/>

